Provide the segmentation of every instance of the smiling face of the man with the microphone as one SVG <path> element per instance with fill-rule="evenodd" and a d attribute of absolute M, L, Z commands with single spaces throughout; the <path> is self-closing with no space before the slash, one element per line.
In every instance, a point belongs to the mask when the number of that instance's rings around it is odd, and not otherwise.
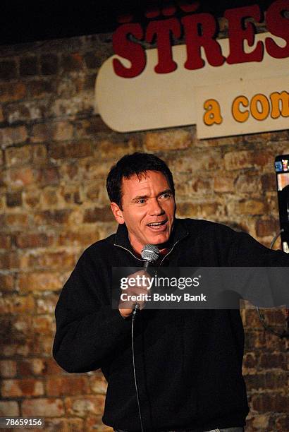
<path fill-rule="evenodd" d="M 163 244 L 170 238 L 176 203 L 166 176 L 147 171 L 123 179 L 122 209 L 111 203 L 119 224 L 126 224 L 130 244 L 141 253 L 145 244 Z"/>

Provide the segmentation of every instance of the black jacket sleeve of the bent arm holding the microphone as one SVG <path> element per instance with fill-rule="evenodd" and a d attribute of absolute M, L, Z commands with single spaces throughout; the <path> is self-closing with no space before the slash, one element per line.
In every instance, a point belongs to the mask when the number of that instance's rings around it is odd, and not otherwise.
<path fill-rule="evenodd" d="M 84 253 L 61 291 L 55 310 L 53 355 L 65 371 L 108 366 L 113 352 L 130 340 L 130 320 L 111 308 L 106 271 L 97 271 Z"/>

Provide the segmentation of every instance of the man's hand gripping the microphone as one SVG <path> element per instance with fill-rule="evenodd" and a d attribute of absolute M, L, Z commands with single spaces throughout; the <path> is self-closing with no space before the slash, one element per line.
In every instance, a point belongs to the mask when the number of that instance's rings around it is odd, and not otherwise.
<path fill-rule="evenodd" d="M 144 308 L 145 297 L 144 295 L 149 294 L 149 282 L 148 279 L 151 277 L 145 270 L 140 270 L 132 275 L 128 276 L 128 288 L 122 289 L 121 294 L 125 294 L 125 299 L 120 299 L 118 303 L 118 310 L 123 318 L 127 318 L 133 312 L 136 304 L 140 305 L 140 309 Z M 130 283 L 135 286 L 130 286 Z M 133 296 L 139 296 L 141 294 L 142 299 L 133 299 Z M 126 300 L 127 299 L 127 300 Z"/>

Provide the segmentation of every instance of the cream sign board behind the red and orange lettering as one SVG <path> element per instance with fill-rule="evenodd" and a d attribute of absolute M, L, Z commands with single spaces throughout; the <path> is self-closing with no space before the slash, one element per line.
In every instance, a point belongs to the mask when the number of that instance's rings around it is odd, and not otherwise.
<path fill-rule="evenodd" d="M 268 35 L 280 47 L 285 41 L 269 33 L 255 35 L 254 47 L 245 47 L 246 52 L 254 51 L 259 40 L 264 42 Z M 228 56 L 228 40 L 218 40 L 224 56 Z M 143 131 L 173 126 L 197 124 L 199 138 L 239 135 L 260 131 L 288 128 L 289 58 L 274 59 L 264 52 L 262 62 L 226 64 L 214 67 L 209 64 L 201 69 L 190 71 L 183 67 L 186 60 L 185 45 L 173 47 L 173 60 L 178 64 L 176 71 L 158 74 L 154 66 L 158 63 L 157 50 L 149 49 L 144 71 L 135 78 L 121 78 L 113 71 L 113 59 L 107 59 L 96 81 L 96 104 L 104 122 L 114 131 Z M 205 60 L 205 54 L 202 52 Z M 125 59 L 121 59 L 125 64 Z M 126 60 L 127 66 L 129 62 Z M 279 115 L 271 116 L 272 104 L 277 106 L 271 93 L 282 93 L 278 100 Z M 263 95 L 261 97 L 257 95 Z M 232 116 L 233 101 L 236 97 L 247 98 L 235 102 L 235 113 L 249 112 L 248 119 L 238 121 Z M 255 97 L 255 98 L 254 98 Z M 253 99 L 254 98 L 254 99 Z M 252 100 L 253 99 L 253 100 Z M 266 102 L 266 100 L 267 102 Z M 221 123 L 206 124 L 214 107 L 208 100 L 216 100 L 220 107 Z M 269 104 L 269 108 L 268 108 Z M 210 109 L 213 109 L 210 112 Z M 251 111 L 250 111 L 251 109 Z M 256 112 L 259 112 L 259 119 Z M 269 109 L 269 112 L 268 112 Z M 264 113 L 268 112 L 265 116 Z M 262 118 L 264 116 L 264 118 Z M 242 117 L 244 118 L 244 117 Z"/>

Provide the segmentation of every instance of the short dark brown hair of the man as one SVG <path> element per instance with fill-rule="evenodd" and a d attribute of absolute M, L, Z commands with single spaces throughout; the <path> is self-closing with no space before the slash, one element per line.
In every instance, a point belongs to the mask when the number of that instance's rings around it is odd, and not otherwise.
<path fill-rule="evenodd" d="M 145 174 L 147 171 L 158 171 L 166 176 L 168 186 L 170 187 L 173 195 L 175 195 L 175 186 L 173 184 L 173 174 L 167 164 L 159 157 L 152 155 L 152 153 L 135 152 L 132 155 L 123 156 L 109 172 L 106 179 L 106 189 L 109 194 L 111 202 L 116 203 L 121 208 L 122 198 L 122 181 L 123 178 L 129 179 L 133 175 L 138 178 Z"/>

